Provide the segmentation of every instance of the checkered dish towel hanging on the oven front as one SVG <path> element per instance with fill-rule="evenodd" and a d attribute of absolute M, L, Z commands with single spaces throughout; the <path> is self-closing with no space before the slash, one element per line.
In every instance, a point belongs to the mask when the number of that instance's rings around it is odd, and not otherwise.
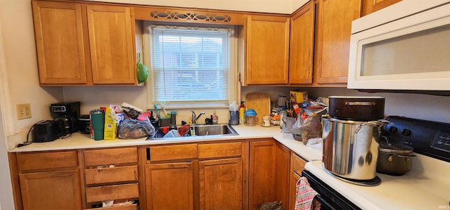
<path fill-rule="evenodd" d="M 301 177 L 297 181 L 295 190 L 295 210 L 309 210 L 311 209 L 312 200 L 314 196 L 318 195 L 311 186 L 309 186 L 306 177 Z"/>

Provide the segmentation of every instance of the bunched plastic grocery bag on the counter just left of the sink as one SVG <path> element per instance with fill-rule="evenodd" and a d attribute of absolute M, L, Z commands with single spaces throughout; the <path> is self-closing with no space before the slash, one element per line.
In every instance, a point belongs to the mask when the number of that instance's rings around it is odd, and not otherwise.
<path fill-rule="evenodd" d="M 138 121 L 127 118 L 119 126 L 119 138 L 122 139 L 153 137 L 155 133 L 155 127 L 148 120 Z"/>

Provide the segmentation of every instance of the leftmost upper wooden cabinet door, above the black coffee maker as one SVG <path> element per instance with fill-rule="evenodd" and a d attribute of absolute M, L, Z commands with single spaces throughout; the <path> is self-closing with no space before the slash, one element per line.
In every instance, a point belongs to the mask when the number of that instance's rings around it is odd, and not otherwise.
<path fill-rule="evenodd" d="M 32 1 L 39 83 L 86 84 L 86 48 L 79 4 Z"/>

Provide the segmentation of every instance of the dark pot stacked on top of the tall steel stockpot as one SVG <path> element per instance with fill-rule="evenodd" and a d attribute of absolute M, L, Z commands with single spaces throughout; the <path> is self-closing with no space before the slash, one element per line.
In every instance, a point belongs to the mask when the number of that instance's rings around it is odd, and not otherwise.
<path fill-rule="evenodd" d="M 364 96 L 330 96 L 331 117 L 355 121 L 384 119 L 385 98 Z"/>

